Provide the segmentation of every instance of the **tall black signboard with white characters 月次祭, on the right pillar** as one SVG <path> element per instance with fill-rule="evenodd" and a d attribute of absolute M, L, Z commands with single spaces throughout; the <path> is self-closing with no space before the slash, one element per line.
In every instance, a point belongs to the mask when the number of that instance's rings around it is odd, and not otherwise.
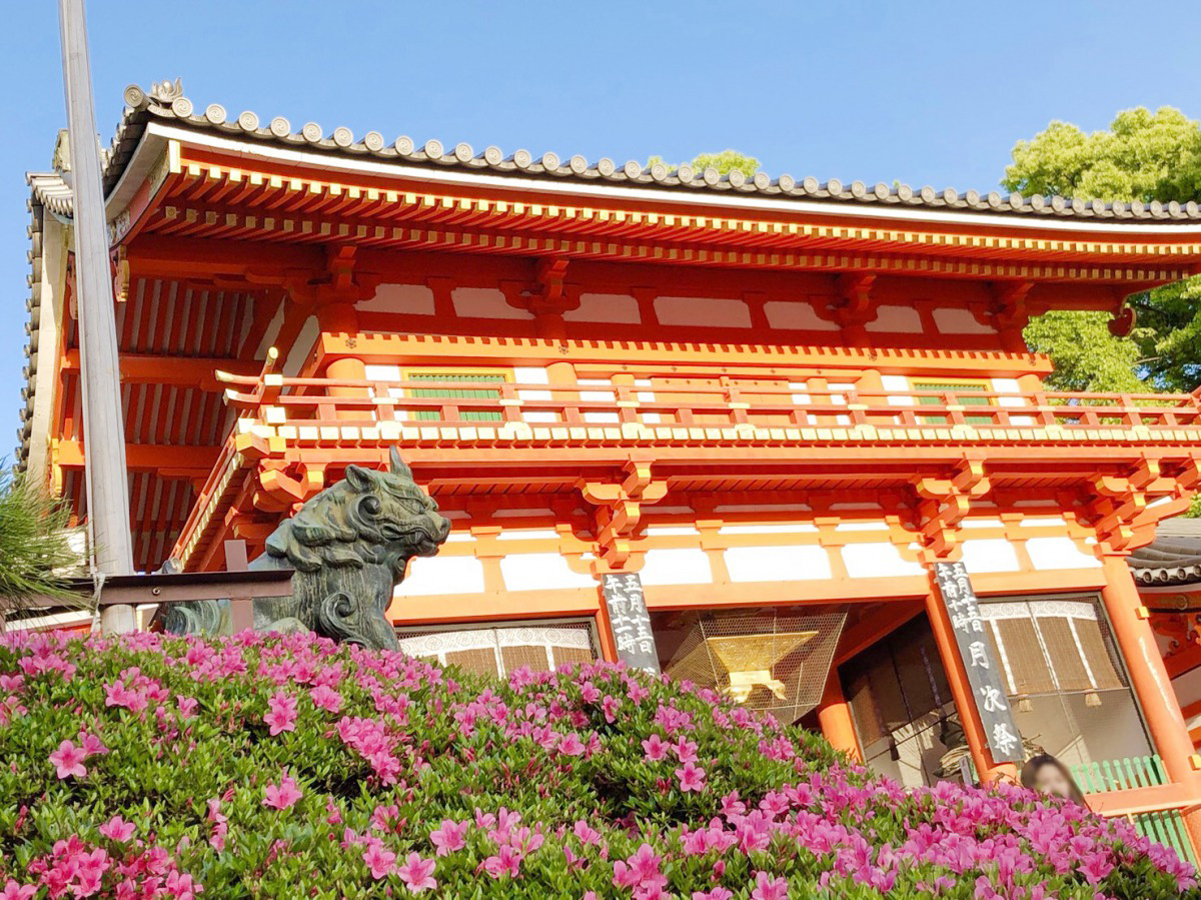
<path fill-rule="evenodd" d="M 1002 687 L 1000 663 L 985 634 L 987 626 L 980 616 L 980 602 L 972 589 L 968 571 L 962 562 L 936 562 L 934 579 L 951 619 L 992 758 L 994 762 L 1020 763 L 1022 735 L 1014 723 L 1014 713 Z"/>

